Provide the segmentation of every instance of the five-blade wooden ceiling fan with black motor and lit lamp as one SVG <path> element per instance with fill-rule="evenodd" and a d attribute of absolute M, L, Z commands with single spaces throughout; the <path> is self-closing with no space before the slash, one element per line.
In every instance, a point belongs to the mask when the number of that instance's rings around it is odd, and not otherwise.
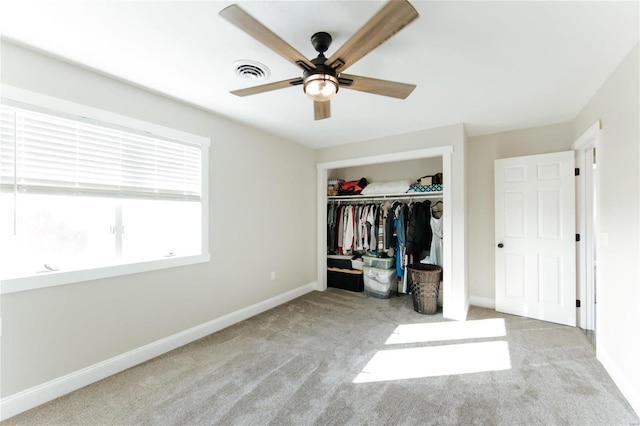
<path fill-rule="evenodd" d="M 416 87 L 415 84 L 342 73 L 418 17 L 418 12 L 407 0 L 390 0 L 329 58 L 324 52 L 331 45 L 331 35 L 326 32 L 313 34 L 311 44 L 318 57 L 311 60 L 236 4 L 221 10 L 220 16 L 302 68 L 302 77 L 234 90 L 231 92 L 234 95 L 249 96 L 302 85 L 307 96 L 313 99 L 315 119 L 322 120 L 331 116 L 330 100 L 339 88 L 405 99 Z"/>

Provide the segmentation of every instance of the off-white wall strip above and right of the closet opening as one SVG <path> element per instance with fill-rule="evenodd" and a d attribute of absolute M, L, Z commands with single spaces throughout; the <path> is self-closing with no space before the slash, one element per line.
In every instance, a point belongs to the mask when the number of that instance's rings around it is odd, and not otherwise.
<path fill-rule="evenodd" d="M 453 146 L 451 156 L 452 199 L 445 209 L 451 211 L 452 262 L 451 287 L 445 288 L 444 315 L 447 318 L 464 319 L 468 308 L 466 271 L 466 196 L 465 196 L 465 143 L 466 134 L 462 124 L 438 127 L 419 132 L 389 136 L 368 141 L 318 149 L 317 163 L 352 160 L 362 157 L 385 156 L 395 153 L 418 151 L 425 148 Z M 407 176 L 411 178 L 411 176 Z M 416 176 L 417 177 L 417 176 Z M 320 183 L 319 183 L 320 185 Z"/>

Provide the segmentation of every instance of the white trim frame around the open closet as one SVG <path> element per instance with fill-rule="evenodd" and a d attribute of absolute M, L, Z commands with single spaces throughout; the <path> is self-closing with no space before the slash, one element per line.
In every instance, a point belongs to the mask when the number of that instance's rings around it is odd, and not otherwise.
<path fill-rule="evenodd" d="M 443 289 L 443 316 L 445 318 L 464 320 L 461 316 L 466 317 L 466 312 L 461 313 L 460 309 L 456 309 L 458 306 L 466 306 L 466 300 L 456 300 L 454 298 L 464 298 L 466 291 L 464 289 L 464 282 L 455 283 L 451 279 L 452 271 L 454 268 L 453 259 L 453 212 L 452 212 L 452 182 L 454 177 L 451 173 L 453 146 L 441 146 L 435 148 L 426 148 L 414 151 L 398 152 L 393 154 L 374 155 L 368 157 L 359 157 L 346 160 L 331 161 L 326 163 L 318 163 L 318 179 L 317 179 L 317 212 L 318 212 L 318 276 L 316 281 L 316 289 L 319 291 L 325 291 L 327 289 L 327 274 L 326 274 L 326 251 L 327 251 L 327 176 L 330 170 L 342 169 L 346 167 L 368 166 L 383 163 L 392 163 L 396 161 L 406 160 L 418 160 L 424 158 L 442 157 L 442 180 L 445 182 L 442 189 L 442 201 L 445 205 L 442 215 L 443 225 L 443 276 L 442 276 L 442 289 Z M 453 206 L 455 208 L 455 206 Z M 464 219 L 463 219 L 464 220 Z M 459 226 L 460 224 L 456 224 Z M 460 229 L 460 228 L 459 228 Z M 464 223 L 462 224 L 464 229 Z M 463 248 L 464 249 L 464 248 Z M 464 255 L 462 256 L 464 260 Z M 464 268 L 464 262 L 457 264 L 455 267 Z M 461 289 L 455 288 L 456 286 L 462 286 Z"/>

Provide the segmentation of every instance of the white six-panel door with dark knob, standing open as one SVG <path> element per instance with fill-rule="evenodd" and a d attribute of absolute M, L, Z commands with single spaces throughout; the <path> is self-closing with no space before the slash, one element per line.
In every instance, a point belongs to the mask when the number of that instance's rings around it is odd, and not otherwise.
<path fill-rule="evenodd" d="M 495 163 L 496 311 L 576 325 L 574 152 Z"/>

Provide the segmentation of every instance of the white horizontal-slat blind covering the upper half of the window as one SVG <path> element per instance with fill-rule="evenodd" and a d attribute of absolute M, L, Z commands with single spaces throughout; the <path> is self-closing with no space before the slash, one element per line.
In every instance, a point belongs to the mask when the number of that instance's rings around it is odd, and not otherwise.
<path fill-rule="evenodd" d="M 201 148 L 1 105 L 3 191 L 199 200 Z"/>

